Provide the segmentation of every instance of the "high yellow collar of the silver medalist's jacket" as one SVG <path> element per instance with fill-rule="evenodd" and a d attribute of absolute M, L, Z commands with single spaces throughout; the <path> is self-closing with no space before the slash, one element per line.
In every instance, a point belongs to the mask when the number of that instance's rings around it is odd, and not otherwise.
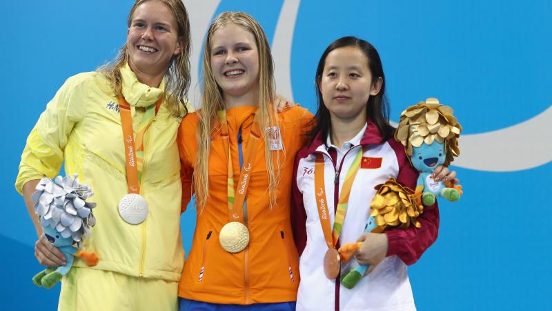
<path fill-rule="evenodd" d="M 138 81 L 128 64 L 121 67 L 122 93 L 130 106 L 147 107 L 155 104 L 165 90 L 165 78 L 161 80 L 159 88 L 152 88 Z"/>

